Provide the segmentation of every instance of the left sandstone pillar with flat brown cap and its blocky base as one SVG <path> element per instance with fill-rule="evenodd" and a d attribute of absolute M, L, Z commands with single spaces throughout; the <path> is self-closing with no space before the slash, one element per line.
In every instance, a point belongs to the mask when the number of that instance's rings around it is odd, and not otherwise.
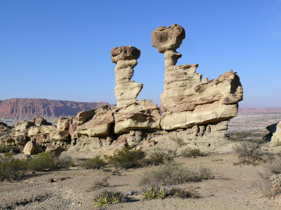
<path fill-rule="evenodd" d="M 160 110 L 151 100 L 136 100 L 142 84 L 131 81 L 134 67 L 141 51 L 132 46 L 121 46 L 111 50 L 111 59 L 116 63 L 115 96 L 117 106 L 111 110 L 114 115 L 114 133 L 125 133 L 134 129 L 160 129 Z"/>

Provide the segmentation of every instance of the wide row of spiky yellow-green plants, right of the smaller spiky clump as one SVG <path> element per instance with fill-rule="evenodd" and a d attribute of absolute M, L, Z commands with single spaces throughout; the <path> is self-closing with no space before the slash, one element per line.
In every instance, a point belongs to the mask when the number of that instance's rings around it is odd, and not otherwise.
<path fill-rule="evenodd" d="M 141 199 L 155 198 L 199 198 L 200 194 L 193 188 L 182 189 L 175 186 L 159 186 L 156 184 L 145 186 L 141 192 Z"/>

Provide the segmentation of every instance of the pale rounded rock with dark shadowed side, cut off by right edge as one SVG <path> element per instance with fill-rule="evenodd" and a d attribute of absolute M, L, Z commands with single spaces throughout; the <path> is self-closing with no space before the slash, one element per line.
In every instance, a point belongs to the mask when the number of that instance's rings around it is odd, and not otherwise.
<path fill-rule="evenodd" d="M 271 147 L 281 145 L 281 121 L 266 127 L 270 132 L 264 137 L 264 140 L 267 141 L 267 145 Z"/>

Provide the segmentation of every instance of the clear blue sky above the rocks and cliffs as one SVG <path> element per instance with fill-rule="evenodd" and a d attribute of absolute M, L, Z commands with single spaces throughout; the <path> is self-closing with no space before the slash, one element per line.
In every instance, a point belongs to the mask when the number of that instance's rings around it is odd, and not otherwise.
<path fill-rule="evenodd" d="M 110 50 L 136 46 L 138 99 L 160 103 L 164 55 L 151 32 L 177 23 L 177 64 L 209 79 L 232 69 L 241 107 L 281 107 L 281 1 L 0 1 L 0 100 L 46 98 L 116 103 Z"/>

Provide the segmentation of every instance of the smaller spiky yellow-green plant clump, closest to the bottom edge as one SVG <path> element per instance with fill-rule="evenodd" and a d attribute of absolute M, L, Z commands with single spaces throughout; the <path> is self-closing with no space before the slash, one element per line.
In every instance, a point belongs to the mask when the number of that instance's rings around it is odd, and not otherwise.
<path fill-rule="evenodd" d="M 92 205 L 93 208 L 107 207 L 109 204 L 126 202 L 127 197 L 119 190 L 105 190 L 94 196 Z"/>

